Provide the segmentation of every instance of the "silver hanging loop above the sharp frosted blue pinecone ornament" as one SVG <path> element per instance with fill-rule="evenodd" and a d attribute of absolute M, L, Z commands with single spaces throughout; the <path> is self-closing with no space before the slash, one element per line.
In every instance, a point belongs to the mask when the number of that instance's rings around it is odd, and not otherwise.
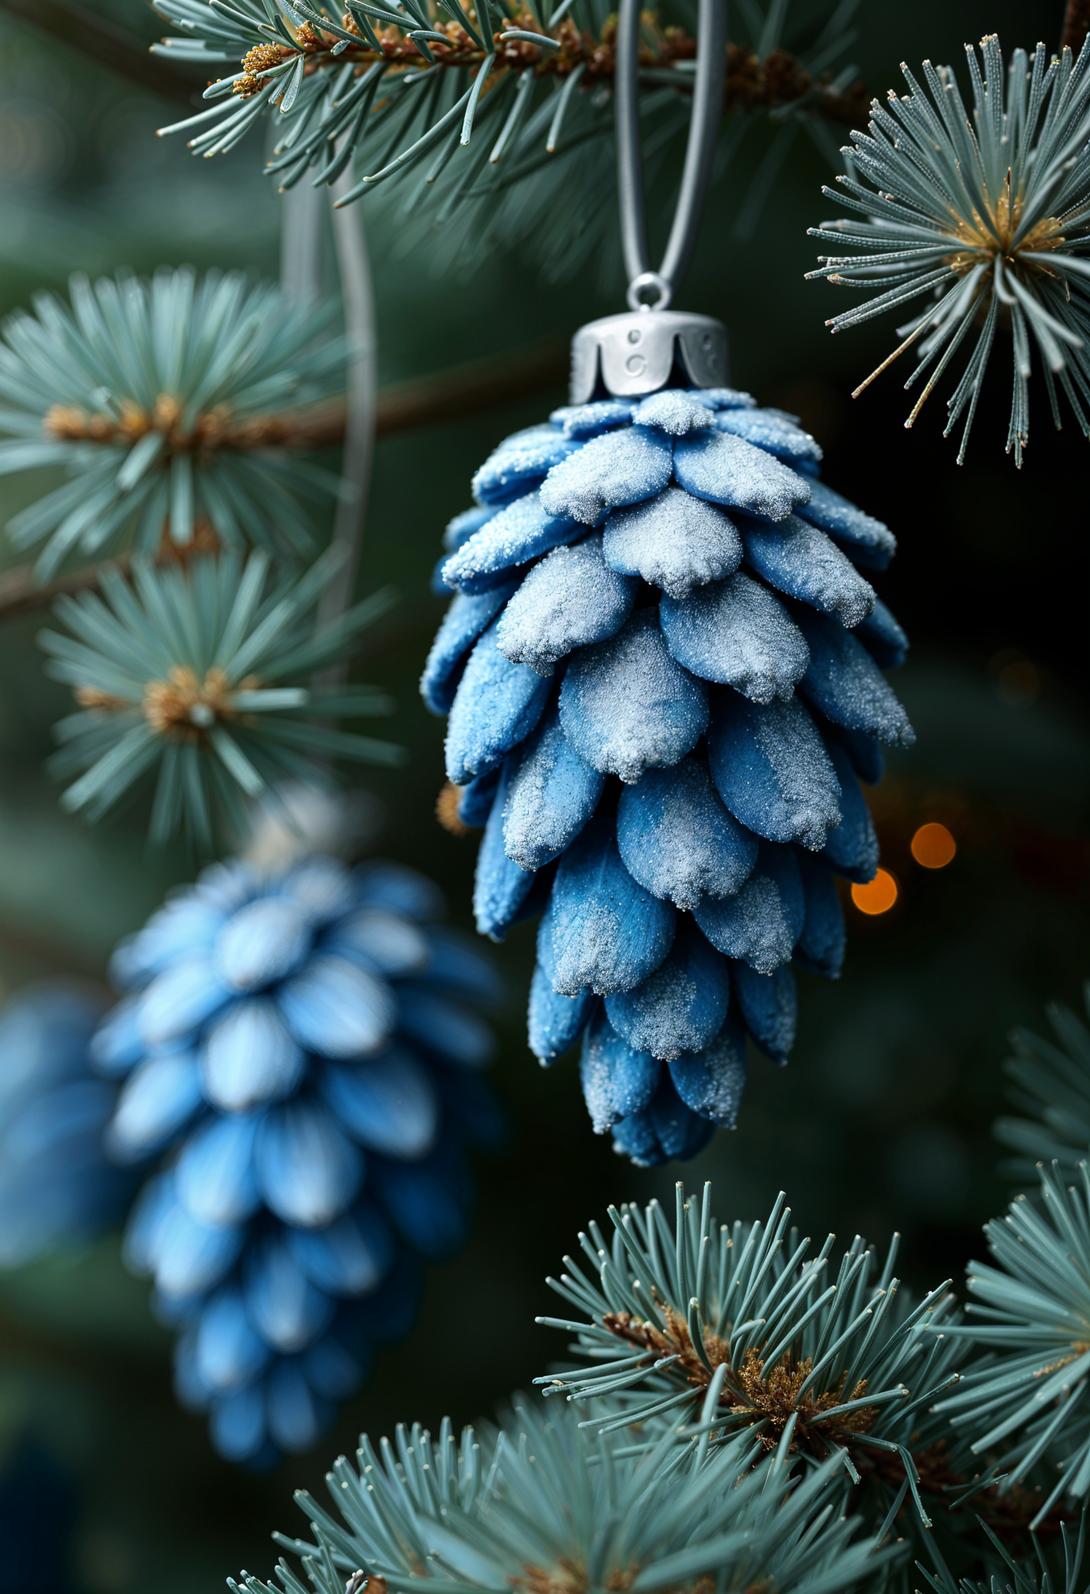
<path fill-rule="evenodd" d="M 680 191 L 658 269 L 647 245 L 647 209 L 639 140 L 641 0 L 621 0 L 617 24 L 614 115 L 617 193 L 631 309 L 666 309 L 696 244 L 711 182 L 727 80 L 727 0 L 700 0 L 696 72 Z"/>

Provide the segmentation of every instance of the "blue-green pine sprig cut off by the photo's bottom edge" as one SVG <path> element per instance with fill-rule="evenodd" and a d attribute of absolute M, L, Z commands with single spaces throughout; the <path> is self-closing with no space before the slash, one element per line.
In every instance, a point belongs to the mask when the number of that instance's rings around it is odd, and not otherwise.
<path fill-rule="evenodd" d="M 792 1476 L 790 1439 L 762 1459 L 747 1436 L 708 1449 L 618 1451 L 564 1408 L 520 1403 L 499 1430 L 437 1438 L 414 1425 L 360 1441 L 328 1474 L 333 1511 L 300 1505 L 301 1565 L 244 1594 L 835 1594 L 870 1588 L 891 1551 L 837 1505 L 837 1462 Z M 706 1580 L 701 1581 L 701 1580 Z"/>

